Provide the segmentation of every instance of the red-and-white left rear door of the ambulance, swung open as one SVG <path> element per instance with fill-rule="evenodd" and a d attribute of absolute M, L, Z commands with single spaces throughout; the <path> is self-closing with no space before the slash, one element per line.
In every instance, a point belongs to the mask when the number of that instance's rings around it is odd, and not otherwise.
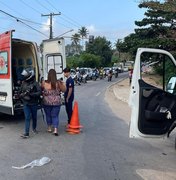
<path fill-rule="evenodd" d="M 0 112 L 14 114 L 11 70 L 12 32 L 0 34 Z"/>

